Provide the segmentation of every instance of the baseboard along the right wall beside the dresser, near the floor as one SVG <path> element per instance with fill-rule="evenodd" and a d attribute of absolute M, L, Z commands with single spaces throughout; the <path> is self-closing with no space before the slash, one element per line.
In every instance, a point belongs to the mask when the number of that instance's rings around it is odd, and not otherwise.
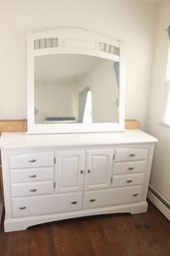
<path fill-rule="evenodd" d="M 148 198 L 162 212 L 162 214 L 168 220 L 170 220 L 170 203 L 169 203 L 169 201 L 151 185 L 149 185 Z"/>

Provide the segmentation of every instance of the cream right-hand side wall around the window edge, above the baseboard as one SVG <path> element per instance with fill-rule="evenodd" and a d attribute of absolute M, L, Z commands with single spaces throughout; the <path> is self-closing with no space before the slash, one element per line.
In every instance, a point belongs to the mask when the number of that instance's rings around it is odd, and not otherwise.
<path fill-rule="evenodd" d="M 156 144 L 151 184 L 165 198 L 169 199 L 170 203 L 170 128 L 164 128 L 159 125 L 163 118 L 165 76 L 169 47 L 169 39 L 165 30 L 169 25 L 170 1 L 165 0 L 161 3 L 158 15 L 148 131 L 159 139 L 159 142 Z"/>

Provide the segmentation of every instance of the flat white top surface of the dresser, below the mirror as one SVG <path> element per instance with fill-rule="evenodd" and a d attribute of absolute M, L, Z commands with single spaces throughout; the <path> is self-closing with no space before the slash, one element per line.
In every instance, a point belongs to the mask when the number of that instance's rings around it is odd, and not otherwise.
<path fill-rule="evenodd" d="M 28 148 L 47 146 L 125 145 L 129 143 L 155 143 L 158 139 L 139 129 L 123 132 L 94 132 L 73 134 L 27 134 L 4 132 L 0 137 L 1 147 Z"/>

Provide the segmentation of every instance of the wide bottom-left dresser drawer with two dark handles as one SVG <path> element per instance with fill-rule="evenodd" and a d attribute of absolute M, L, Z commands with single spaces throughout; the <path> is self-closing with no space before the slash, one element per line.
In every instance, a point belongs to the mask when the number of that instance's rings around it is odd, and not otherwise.
<path fill-rule="evenodd" d="M 13 217 L 46 215 L 58 212 L 80 210 L 82 208 L 82 202 L 82 192 L 13 198 Z"/>

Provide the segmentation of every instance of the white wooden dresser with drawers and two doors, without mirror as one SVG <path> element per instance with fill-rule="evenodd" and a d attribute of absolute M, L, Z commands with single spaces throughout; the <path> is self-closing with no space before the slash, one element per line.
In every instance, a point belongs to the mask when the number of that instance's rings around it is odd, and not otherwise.
<path fill-rule="evenodd" d="M 5 231 L 81 216 L 145 212 L 156 141 L 141 130 L 3 133 Z"/>

